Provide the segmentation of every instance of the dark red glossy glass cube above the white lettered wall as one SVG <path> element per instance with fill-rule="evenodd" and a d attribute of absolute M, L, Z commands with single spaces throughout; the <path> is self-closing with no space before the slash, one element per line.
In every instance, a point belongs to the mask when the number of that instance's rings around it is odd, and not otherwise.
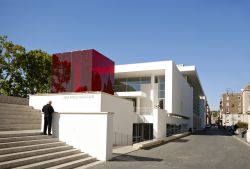
<path fill-rule="evenodd" d="M 52 55 L 52 92 L 114 94 L 114 62 L 94 49 Z"/>

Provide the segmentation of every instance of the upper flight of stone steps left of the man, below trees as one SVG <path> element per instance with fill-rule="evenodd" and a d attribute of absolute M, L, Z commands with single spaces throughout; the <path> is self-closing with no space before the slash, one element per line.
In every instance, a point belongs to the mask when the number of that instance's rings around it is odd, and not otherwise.
<path fill-rule="evenodd" d="M 41 112 L 27 105 L 0 103 L 0 131 L 41 128 Z"/>

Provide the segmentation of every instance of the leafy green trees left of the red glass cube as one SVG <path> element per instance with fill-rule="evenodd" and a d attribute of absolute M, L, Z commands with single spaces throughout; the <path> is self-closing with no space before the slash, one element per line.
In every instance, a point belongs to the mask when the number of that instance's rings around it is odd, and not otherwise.
<path fill-rule="evenodd" d="M 51 56 L 25 48 L 0 36 L 0 93 L 27 97 L 50 92 Z"/>

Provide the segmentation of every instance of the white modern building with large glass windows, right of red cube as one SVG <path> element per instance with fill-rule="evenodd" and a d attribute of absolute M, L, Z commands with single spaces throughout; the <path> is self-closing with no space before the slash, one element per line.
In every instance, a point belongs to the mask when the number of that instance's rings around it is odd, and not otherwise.
<path fill-rule="evenodd" d="M 134 103 L 136 138 L 162 138 L 205 126 L 206 97 L 195 66 L 173 61 L 117 65 L 114 90 Z M 149 126 L 141 126 L 145 123 Z"/>

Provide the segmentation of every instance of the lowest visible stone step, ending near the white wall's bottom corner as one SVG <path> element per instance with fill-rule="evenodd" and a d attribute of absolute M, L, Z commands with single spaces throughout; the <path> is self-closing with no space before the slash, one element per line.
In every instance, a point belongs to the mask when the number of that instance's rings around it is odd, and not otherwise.
<path fill-rule="evenodd" d="M 82 158 L 82 159 L 79 159 L 79 160 L 64 163 L 64 164 L 61 164 L 61 165 L 53 166 L 53 167 L 50 167 L 50 168 L 47 168 L 47 169 L 71 169 L 71 168 L 87 165 L 87 164 L 95 162 L 95 161 L 96 161 L 96 158 L 86 157 L 86 158 Z"/>

